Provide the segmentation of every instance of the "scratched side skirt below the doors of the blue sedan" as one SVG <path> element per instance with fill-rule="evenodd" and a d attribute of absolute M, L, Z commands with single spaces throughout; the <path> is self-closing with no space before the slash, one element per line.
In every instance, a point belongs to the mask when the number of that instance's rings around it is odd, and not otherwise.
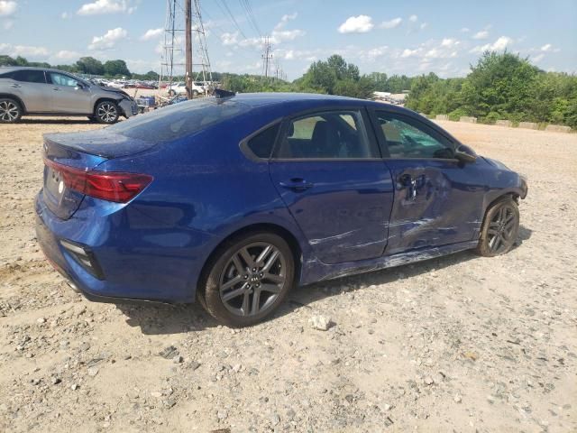
<path fill-rule="evenodd" d="M 326 264 L 313 258 L 311 260 L 306 260 L 303 263 L 300 283 L 302 285 L 312 284 L 316 281 L 333 280 L 348 275 L 379 271 L 381 269 L 393 268 L 403 264 L 421 262 L 441 257 L 443 255 L 470 250 L 475 248 L 477 244 L 479 244 L 479 240 L 475 239 L 472 241 L 460 242 L 458 244 L 448 244 L 413 250 L 407 253 L 386 255 L 377 259 L 365 260 L 362 262 Z"/>

